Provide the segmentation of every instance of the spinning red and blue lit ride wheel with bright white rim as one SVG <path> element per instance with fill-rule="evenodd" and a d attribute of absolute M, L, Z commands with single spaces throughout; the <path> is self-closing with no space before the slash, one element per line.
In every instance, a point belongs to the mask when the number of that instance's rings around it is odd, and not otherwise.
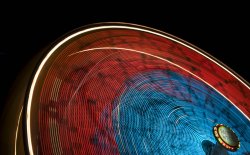
<path fill-rule="evenodd" d="M 29 153 L 199 154 L 214 123 L 231 119 L 249 128 L 249 88 L 167 33 L 123 23 L 82 28 L 53 46 L 34 74 L 26 107 Z M 248 143 L 242 140 L 240 151 Z"/>

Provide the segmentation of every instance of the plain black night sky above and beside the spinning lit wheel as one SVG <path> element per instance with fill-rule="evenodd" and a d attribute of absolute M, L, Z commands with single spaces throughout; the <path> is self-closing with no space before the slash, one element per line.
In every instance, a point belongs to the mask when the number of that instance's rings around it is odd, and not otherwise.
<path fill-rule="evenodd" d="M 17 9 L 12 5 L 1 6 L 4 9 L 0 16 L 1 109 L 17 74 L 34 55 L 65 33 L 97 22 L 129 22 L 168 32 L 207 51 L 250 81 L 247 5 L 212 4 L 212 7 L 202 5 L 185 10 L 166 4 L 162 4 L 162 8 L 140 6 L 133 9 L 130 6 L 121 9 L 123 4 L 99 5 L 101 10 L 95 5 L 83 4 L 73 4 L 71 9 L 69 6 L 63 9 L 39 5 L 31 8 L 16 4 Z"/>

